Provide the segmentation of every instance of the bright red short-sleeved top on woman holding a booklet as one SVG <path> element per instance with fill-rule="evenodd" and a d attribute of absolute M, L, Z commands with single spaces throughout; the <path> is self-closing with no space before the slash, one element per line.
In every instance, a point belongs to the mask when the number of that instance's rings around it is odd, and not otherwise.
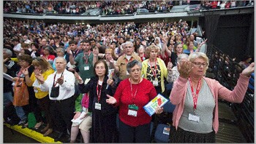
<path fill-rule="evenodd" d="M 137 93 L 135 95 L 136 90 Z M 135 97 L 134 103 L 132 103 L 132 95 Z M 156 96 L 156 89 L 147 79 L 143 79 L 139 84 L 132 84 L 132 92 L 129 79 L 124 79 L 118 85 L 114 95 L 117 101 L 116 106 L 119 105 L 120 120 L 131 127 L 148 124 L 151 121 L 151 116 L 146 113 L 143 106 Z M 137 116 L 128 115 L 128 105 L 132 104 L 138 106 Z"/>

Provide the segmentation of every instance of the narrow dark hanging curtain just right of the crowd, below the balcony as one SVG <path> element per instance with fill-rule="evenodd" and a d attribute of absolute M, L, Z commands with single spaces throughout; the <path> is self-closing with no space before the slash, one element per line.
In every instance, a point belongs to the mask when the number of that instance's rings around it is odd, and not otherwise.
<path fill-rule="evenodd" d="M 206 23 L 206 39 L 208 44 L 214 43 L 214 38 L 217 32 L 220 15 L 205 15 Z"/>

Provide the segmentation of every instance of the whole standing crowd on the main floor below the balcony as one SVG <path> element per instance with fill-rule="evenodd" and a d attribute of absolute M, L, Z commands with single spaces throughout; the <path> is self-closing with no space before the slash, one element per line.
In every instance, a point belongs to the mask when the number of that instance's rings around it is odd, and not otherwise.
<path fill-rule="evenodd" d="M 34 113 L 34 129 L 45 123 L 41 132 L 59 131 L 56 141 L 68 130 L 75 143 L 80 129 L 85 143 L 150 143 L 150 122 L 157 123 L 163 108 L 149 116 L 143 106 L 161 94 L 176 105 L 171 141 L 214 143 L 218 97 L 241 103 L 254 63 L 230 91 L 205 77 L 207 39 L 188 31 L 182 20 L 47 25 L 4 19 L 4 73 L 29 89 L 29 105 L 15 107 L 19 124 L 27 127 Z M 4 87 L 4 102 L 12 102 L 12 82 L 4 79 Z"/>

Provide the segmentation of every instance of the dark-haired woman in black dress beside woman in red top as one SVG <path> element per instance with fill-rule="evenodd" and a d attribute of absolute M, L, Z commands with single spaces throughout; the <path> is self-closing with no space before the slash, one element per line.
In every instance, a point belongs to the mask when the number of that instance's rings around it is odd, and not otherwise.
<path fill-rule="evenodd" d="M 107 95 L 114 95 L 117 83 L 108 78 L 108 65 L 105 60 L 98 60 L 94 65 L 95 76 L 85 85 L 83 79 L 75 73 L 81 93 L 89 92 L 89 108 L 86 116 L 92 113 L 91 143 L 117 143 L 116 113 L 117 109 L 106 103 Z M 86 122 L 86 121 L 85 121 Z M 83 123 L 83 122 L 82 122 Z M 89 129 L 80 127 L 81 133 L 89 138 Z M 71 134 L 72 135 L 72 134 Z M 73 139 L 73 138 L 72 138 Z M 89 140 L 87 140 L 89 142 Z"/>

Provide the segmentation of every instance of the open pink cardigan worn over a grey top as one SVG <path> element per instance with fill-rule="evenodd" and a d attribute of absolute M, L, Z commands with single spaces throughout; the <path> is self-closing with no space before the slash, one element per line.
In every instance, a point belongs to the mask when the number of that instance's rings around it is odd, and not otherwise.
<path fill-rule="evenodd" d="M 206 77 L 203 77 L 203 79 L 206 80 L 208 87 L 214 95 L 215 108 L 213 127 L 215 133 L 217 133 L 219 129 L 218 97 L 231 103 L 241 103 L 248 87 L 249 77 L 241 76 L 240 74 L 236 87 L 233 91 L 222 86 L 222 84 L 219 84 L 219 81 L 216 81 L 215 79 L 209 79 Z M 176 105 L 176 108 L 173 111 L 173 126 L 176 127 L 176 129 L 178 129 L 178 122 L 184 110 L 185 96 L 187 94 L 187 81 L 187 79 L 179 76 L 174 82 L 173 89 L 170 93 L 170 102 L 173 103 L 173 105 Z"/>

